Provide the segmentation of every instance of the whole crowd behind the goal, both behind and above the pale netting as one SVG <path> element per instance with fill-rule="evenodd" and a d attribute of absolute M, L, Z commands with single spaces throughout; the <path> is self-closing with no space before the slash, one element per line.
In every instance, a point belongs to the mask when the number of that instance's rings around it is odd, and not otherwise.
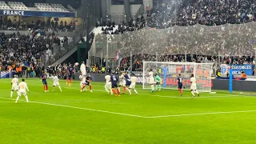
<path fill-rule="evenodd" d="M 130 66 L 132 54 L 133 70 L 142 70 L 143 61 L 217 62 L 218 55 L 220 63 L 229 63 L 230 58 L 234 64 L 251 63 L 256 54 L 255 4 L 252 0 L 166 1 L 147 10 L 143 28 L 122 31 L 120 26 L 116 30 L 102 26 L 103 33 L 95 35 L 96 46 L 117 42 L 109 58 L 118 55 L 125 67 Z"/>

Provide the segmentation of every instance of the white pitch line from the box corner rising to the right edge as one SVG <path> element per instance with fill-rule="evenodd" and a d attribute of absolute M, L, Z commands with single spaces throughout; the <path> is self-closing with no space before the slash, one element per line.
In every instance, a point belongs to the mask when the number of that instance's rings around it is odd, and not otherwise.
<path fill-rule="evenodd" d="M 210 115 L 210 114 L 235 114 L 235 113 L 252 113 L 256 110 L 240 110 L 240 111 L 219 111 L 212 113 L 198 113 L 198 114 L 174 114 L 174 115 L 159 115 L 146 118 L 170 118 L 170 117 L 183 117 L 183 116 L 194 116 L 194 115 Z"/>

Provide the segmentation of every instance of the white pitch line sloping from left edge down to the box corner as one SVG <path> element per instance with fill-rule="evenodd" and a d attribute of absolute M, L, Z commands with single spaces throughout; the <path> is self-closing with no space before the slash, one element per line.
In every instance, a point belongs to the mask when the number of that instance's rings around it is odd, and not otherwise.
<path fill-rule="evenodd" d="M 2 98 L 2 97 L 0 97 L 0 98 Z M 14 100 L 13 98 L 2 98 L 2 99 L 10 99 L 10 100 Z M 30 103 L 38 103 L 38 104 L 42 104 L 42 105 L 49 105 L 49 106 L 61 106 L 61 107 L 67 107 L 67 108 L 72 108 L 72 109 L 79 109 L 79 110 L 97 111 L 97 112 L 108 113 L 108 114 L 126 115 L 126 116 L 130 116 L 130 117 L 137 117 L 137 118 L 146 118 L 146 117 L 141 116 L 141 115 L 135 115 L 135 114 L 124 114 L 124 113 L 117 113 L 117 112 L 113 112 L 113 111 L 106 111 L 106 110 L 87 109 L 87 108 L 77 107 L 77 106 L 65 106 L 65 105 L 58 105 L 58 104 L 53 104 L 53 103 L 46 103 L 46 102 L 31 102 L 31 101 L 30 101 Z"/>

